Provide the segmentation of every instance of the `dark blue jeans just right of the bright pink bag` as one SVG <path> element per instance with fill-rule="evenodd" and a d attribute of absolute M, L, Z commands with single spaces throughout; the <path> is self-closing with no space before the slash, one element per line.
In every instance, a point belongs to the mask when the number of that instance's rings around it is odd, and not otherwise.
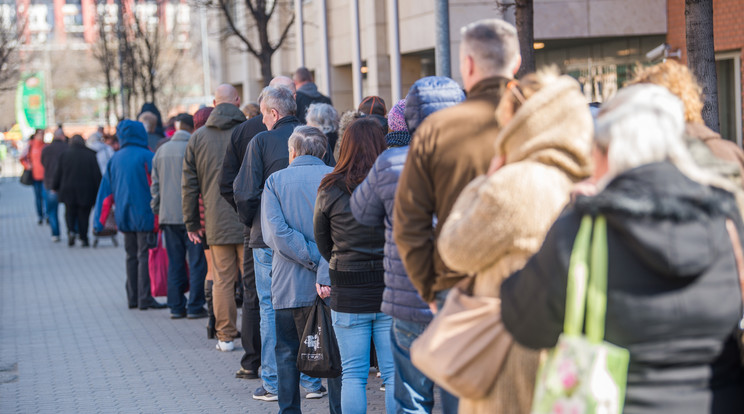
<path fill-rule="evenodd" d="M 207 259 L 201 243 L 189 240 L 183 224 L 161 224 L 165 251 L 168 253 L 168 307 L 174 314 L 203 312 L 204 279 Z M 188 271 L 186 260 L 188 258 Z M 184 292 L 190 285 L 189 299 Z"/>

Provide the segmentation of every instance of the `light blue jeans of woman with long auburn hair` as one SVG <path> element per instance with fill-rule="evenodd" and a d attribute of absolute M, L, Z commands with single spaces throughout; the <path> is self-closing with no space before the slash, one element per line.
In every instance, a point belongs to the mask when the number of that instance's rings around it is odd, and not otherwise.
<path fill-rule="evenodd" d="M 375 342 L 377 363 L 385 383 L 385 411 L 395 413 L 395 363 L 390 349 L 393 318 L 382 312 L 345 313 L 332 311 L 341 353 L 341 410 L 344 414 L 367 412 L 367 377 L 369 376 L 370 343 Z"/>

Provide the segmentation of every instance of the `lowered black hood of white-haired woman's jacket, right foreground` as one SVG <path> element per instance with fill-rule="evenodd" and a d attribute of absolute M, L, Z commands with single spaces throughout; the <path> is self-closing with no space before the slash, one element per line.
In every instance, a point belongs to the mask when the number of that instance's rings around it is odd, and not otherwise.
<path fill-rule="evenodd" d="M 689 179 L 669 162 L 626 171 L 596 196 L 580 197 L 575 208 L 603 214 L 636 257 L 674 278 L 694 278 L 716 263 L 717 226 L 738 215 L 733 195 Z"/>

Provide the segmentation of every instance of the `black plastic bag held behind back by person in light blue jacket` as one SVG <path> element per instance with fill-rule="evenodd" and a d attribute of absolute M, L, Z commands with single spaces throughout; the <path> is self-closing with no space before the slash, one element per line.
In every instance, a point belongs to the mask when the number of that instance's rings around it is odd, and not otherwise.
<path fill-rule="evenodd" d="M 314 378 L 336 378 L 341 375 L 341 354 L 333 332 L 331 309 L 320 296 L 315 298 L 300 338 L 297 369 Z"/>

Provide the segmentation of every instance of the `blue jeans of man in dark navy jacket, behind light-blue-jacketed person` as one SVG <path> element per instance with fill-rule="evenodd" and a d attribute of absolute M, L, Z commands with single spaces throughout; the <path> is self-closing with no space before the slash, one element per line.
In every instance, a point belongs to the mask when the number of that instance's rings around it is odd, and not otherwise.
<path fill-rule="evenodd" d="M 261 382 L 266 391 L 278 393 L 276 372 L 276 323 L 274 306 L 271 304 L 271 259 L 274 252 L 269 248 L 253 249 L 253 268 L 256 271 L 256 292 L 261 312 Z M 300 376 L 303 388 L 317 391 L 322 383 L 317 378 L 305 374 Z M 278 395 L 278 394 L 277 394 Z"/>

